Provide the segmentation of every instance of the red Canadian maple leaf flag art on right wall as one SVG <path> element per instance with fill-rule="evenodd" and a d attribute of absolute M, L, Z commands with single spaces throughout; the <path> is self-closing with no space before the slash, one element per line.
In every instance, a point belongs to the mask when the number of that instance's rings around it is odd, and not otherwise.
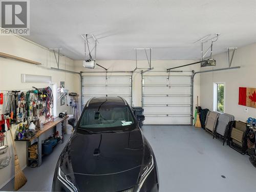
<path fill-rule="evenodd" d="M 256 108 L 256 88 L 239 88 L 238 104 Z"/>

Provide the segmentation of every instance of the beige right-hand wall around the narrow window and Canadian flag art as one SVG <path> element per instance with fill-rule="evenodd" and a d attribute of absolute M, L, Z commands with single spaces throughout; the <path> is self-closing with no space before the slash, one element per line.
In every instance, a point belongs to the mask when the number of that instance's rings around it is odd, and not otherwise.
<path fill-rule="evenodd" d="M 214 69 L 228 67 L 227 52 L 215 55 L 214 58 L 217 63 Z M 239 87 L 256 88 L 256 44 L 237 49 L 231 67 L 236 66 L 241 66 L 241 69 L 201 74 L 200 104 L 202 108 L 212 110 L 213 83 L 225 82 L 225 112 L 234 115 L 237 120 L 246 121 L 248 117 L 256 118 L 256 109 L 238 104 Z"/>

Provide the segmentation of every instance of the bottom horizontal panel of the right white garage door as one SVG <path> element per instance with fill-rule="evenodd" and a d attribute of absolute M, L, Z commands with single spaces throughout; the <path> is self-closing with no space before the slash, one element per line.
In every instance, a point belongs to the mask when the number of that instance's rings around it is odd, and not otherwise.
<path fill-rule="evenodd" d="M 144 124 L 190 124 L 190 116 L 145 116 Z"/>

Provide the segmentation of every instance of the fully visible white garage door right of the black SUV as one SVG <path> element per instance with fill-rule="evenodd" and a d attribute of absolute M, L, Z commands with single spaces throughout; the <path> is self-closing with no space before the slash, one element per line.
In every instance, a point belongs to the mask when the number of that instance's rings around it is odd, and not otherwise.
<path fill-rule="evenodd" d="M 144 124 L 191 124 L 191 76 L 143 75 Z"/>

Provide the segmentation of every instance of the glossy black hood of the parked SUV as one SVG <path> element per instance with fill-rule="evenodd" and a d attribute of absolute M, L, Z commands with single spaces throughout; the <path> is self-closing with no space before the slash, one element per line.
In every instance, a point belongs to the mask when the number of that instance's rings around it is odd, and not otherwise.
<path fill-rule="evenodd" d="M 62 153 L 60 168 L 80 190 L 119 191 L 137 183 L 143 153 L 139 129 L 102 134 L 75 130 Z"/>

